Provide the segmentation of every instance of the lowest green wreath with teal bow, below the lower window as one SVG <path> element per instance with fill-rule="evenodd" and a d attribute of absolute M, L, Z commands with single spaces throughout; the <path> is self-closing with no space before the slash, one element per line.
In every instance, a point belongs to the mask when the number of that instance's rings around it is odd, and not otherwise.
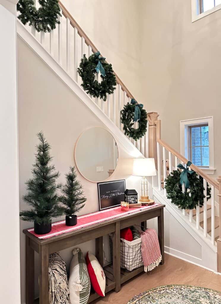
<path fill-rule="evenodd" d="M 203 193 L 203 178 L 195 171 L 190 171 L 189 166 L 192 164 L 188 161 L 186 168 L 178 164 L 180 170 L 174 170 L 165 179 L 165 189 L 167 198 L 181 209 L 196 209 L 196 206 L 202 207 L 205 195 Z M 182 192 L 182 185 L 185 185 L 185 192 Z M 211 198 L 211 188 L 207 183 L 207 201 Z"/>

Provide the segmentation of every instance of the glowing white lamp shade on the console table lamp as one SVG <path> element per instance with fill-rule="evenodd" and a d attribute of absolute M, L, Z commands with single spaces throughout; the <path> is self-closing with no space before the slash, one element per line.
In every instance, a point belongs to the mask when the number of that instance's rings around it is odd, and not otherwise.
<path fill-rule="evenodd" d="M 135 158 L 134 166 L 133 166 L 133 175 L 135 176 L 156 175 L 154 158 Z"/>

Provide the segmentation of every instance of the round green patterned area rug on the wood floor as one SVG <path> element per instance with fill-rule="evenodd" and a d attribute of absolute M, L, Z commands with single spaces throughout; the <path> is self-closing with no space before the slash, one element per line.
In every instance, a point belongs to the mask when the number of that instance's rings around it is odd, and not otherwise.
<path fill-rule="evenodd" d="M 220 304 L 221 292 L 190 285 L 165 285 L 136 295 L 127 304 Z"/>

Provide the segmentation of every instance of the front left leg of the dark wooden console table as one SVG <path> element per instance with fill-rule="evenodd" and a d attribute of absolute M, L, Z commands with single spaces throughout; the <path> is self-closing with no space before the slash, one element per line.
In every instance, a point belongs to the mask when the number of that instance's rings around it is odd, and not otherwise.
<path fill-rule="evenodd" d="M 39 245 L 39 304 L 49 304 L 48 245 Z"/>

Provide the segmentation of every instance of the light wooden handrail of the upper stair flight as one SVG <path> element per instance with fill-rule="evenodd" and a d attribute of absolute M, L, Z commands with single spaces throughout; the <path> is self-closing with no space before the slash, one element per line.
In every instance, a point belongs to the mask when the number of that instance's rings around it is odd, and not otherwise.
<path fill-rule="evenodd" d="M 65 16 L 65 18 L 68 18 L 70 20 L 71 26 L 75 27 L 77 29 L 77 32 L 80 37 L 84 37 L 85 43 L 87 45 L 91 46 L 91 49 L 94 53 L 98 52 L 97 47 L 95 47 L 94 43 L 90 40 L 90 38 L 86 35 L 86 33 L 83 31 L 83 29 L 80 27 L 80 25 L 74 20 L 70 12 L 64 7 L 62 2 L 59 1 L 60 8 L 62 10 L 62 14 Z M 134 98 L 131 92 L 127 89 L 127 87 L 124 85 L 124 83 L 121 81 L 121 79 L 117 76 L 117 74 L 114 72 L 116 76 L 116 81 L 118 85 L 121 85 L 122 91 L 125 91 L 127 93 L 127 97 Z"/>

